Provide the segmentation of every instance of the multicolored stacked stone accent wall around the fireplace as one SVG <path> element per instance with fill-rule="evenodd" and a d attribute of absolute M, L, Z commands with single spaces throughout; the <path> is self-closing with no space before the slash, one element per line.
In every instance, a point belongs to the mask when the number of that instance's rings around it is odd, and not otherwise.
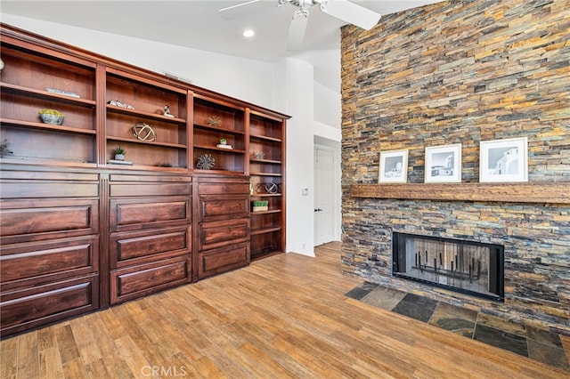
<path fill-rule="evenodd" d="M 462 143 L 462 181 L 478 181 L 480 141 L 525 136 L 528 180 L 570 196 L 570 1 L 447 1 L 347 26 L 342 68 L 342 270 L 570 334 L 568 206 L 349 193 L 378 181 L 380 151 L 408 149 L 422 183 L 425 148 Z M 505 302 L 393 278 L 393 231 L 504 245 Z"/>

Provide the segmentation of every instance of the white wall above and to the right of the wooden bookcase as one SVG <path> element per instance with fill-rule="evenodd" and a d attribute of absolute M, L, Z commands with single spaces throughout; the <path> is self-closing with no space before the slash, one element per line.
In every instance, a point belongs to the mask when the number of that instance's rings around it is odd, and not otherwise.
<path fill-rule="evenodd" d="M 314 254 L 314 136 L 340 141 L 340 95 L 337 99 L 334 92 L 315 85 L 310 63 L 291 58 L 274 64 L 246 60 L 4 13 L 2 22 L 143 69 L 160 74 L 168 71 L 191 79 L 193 85 L 291 116 L 287 133 L 286 251 Z M 319 122 L 314 121 L 315 108 L 319 109 Z M 309 195 L 301 195 L 302 188 L 309 189 Z"/>

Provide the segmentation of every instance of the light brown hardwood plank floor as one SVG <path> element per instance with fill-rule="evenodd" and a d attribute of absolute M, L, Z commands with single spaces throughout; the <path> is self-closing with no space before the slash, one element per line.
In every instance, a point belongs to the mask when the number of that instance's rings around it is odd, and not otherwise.
<path fill-rule="evenodd" d="M 2 378 L 562 378 L 344 294 L 340 244 L 5 339 Z M 154 373 L 154 375 L 153 375 Z"/>

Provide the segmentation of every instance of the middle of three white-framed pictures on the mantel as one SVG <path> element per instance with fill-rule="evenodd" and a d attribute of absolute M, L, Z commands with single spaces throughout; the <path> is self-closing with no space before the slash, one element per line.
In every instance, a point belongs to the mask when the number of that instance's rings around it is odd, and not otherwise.
<path fill-rule="evenodd" d="M 426 148 L 424 181 L 427 183 L 461 181 L 461 144 Z"/>

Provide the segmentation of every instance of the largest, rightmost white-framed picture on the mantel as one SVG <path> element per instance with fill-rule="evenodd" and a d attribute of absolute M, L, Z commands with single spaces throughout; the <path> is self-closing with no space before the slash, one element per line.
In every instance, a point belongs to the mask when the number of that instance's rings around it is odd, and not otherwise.
<path fill-rule="evenodd" d="M 481 141 L 479 181 L 528 181 L 526 137 Z"/>

